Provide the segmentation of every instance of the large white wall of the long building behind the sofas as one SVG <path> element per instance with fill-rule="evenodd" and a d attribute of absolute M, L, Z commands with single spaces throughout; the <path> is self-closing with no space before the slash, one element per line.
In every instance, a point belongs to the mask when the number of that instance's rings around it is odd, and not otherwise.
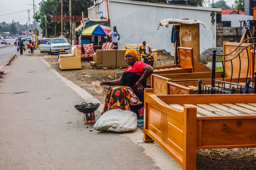
<path fill-rule="evenodd" d="M 141 43 L 143 39 L 154 49 L 165 49 L 174 54 L 174 44 L 171 43 L 171 30 L 160 27 L 159 21 L 167 18 L 197 19 L 206 23 L 205 29 L 200 25 L 200 52 L 216 46 L 216 22 L 211 22 L 212 11 L 221 11 L 218 8 L 207 8 L 187 5 L 173 5 L 165 3 L 150 3 L 132 0 L 110 0 L 111 27 L 117 26 L 120 34 L 119 49 L 126 43 Z M 214 15 L 216 20 L 216 15 Z"/>

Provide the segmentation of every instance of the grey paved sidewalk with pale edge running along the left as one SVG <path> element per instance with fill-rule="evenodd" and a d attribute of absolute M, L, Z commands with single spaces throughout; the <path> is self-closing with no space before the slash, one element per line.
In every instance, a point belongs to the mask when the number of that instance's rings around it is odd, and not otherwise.
<path fill-rule="evenodd" d="M 18 55 L 2 68 L 0 169 L 182 169 L 157 144 L 137 144 L 139 129 L 111 133 L 85 125 L 74 105 L 97 99 L 48 65 Z"/>

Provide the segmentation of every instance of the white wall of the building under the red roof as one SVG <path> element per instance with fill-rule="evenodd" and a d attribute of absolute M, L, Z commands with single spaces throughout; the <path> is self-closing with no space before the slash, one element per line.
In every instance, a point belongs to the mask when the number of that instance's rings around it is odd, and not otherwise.
<path fill-rule="evenodd" d="M 231 27 L 240 27 L 239 20 L 253 19 L 250 15 L 229 14 L 221 15 L 221 21 L 231 21 Z M 243 26 L 243 23 L 242 23 Z"/>

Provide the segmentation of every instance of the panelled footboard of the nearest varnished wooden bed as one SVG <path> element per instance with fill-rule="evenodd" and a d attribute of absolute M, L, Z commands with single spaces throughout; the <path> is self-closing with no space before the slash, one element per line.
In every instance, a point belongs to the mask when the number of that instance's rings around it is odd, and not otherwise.
<path fill-rule="evenodd" d="M 184 111 L 144 89 L 144 138 L 156 141 L 183 169 L 196 169 L 196 107 Z"/>

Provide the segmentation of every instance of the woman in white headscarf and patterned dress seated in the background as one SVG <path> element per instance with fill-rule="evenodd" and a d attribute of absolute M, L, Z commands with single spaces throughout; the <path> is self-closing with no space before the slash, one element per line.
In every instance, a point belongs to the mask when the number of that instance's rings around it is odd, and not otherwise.
<path fill-rule="evenodd" d="M 142 58 L 144 59 L 144 63 L 153 67 L 154 65 L 154 58 L 151 55 L 152 51 L 149 46 L 147 46 L 146 41 L 142 41 L 142 45 L 139 49 L 139 55 L 142 54 Z"/>

